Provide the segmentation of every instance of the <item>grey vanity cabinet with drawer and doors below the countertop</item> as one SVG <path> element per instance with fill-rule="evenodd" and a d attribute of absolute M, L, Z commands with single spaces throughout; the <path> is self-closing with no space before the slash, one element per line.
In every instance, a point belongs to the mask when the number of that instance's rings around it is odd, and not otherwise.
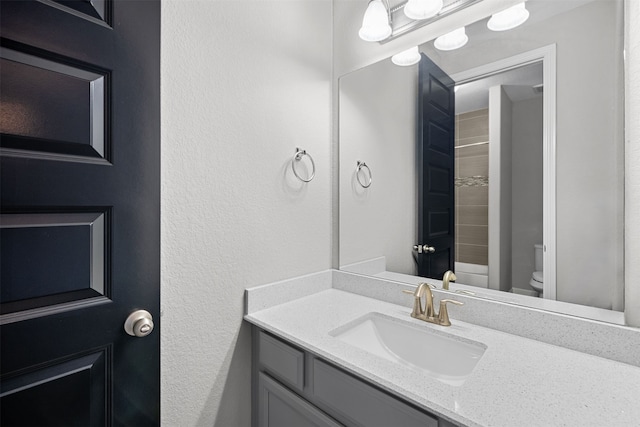
<path fill-rule="evenodd" d="M 330 362 L 253 327 L 253 427 L 452 427 Z"/>

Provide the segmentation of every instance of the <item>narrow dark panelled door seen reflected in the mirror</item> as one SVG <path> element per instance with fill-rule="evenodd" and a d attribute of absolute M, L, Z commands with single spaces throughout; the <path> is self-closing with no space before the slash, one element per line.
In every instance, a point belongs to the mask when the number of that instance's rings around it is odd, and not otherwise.
<path fill-rule="evenodd" d="M 416 171 L 418 275 L 441 279 L 455 262 L 454 81 L 422 54 L 418 79 Z"/>

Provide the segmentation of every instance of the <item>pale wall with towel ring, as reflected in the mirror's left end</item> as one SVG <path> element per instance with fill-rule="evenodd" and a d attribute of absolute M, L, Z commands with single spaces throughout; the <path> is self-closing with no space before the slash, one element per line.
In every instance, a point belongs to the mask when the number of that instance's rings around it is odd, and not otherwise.
<path fill-rule="evenodd" d="M 385 256 L 388 271 L 415 274 L 417 68 L 391 60 L 340 79 L 340 264 Z M 374 89 L 375 88 L 375 89 Z M 372 184 L 355 180 L 356 162 Z"/>

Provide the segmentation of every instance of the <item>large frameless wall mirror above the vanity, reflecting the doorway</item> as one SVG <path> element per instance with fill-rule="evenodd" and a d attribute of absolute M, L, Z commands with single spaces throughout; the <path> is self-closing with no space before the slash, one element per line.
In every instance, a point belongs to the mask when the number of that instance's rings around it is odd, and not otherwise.
<path fill-rule="evenodd" d="M 513 30 L 490 31 L 483 19 L 460 49 L 419 46 L 456 83 L 456 283 L 622 323 L 624 5 L 526 7 L 530 18 Z M 415 246 L 430 242 L 417 241 L 418 101 L 418 65 L 385 59 L 339 79 L 343 269 L 422 280 L 417 257 L 430 255 Z"/>

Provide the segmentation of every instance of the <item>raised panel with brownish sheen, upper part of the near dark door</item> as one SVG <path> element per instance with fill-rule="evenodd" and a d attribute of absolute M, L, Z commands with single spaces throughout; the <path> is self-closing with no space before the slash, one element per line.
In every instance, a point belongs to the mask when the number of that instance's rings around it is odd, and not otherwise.
<path fill-rule="evenodd" d="M 106 72 L 13 46 L 0 48 L 2 147 L 103 158 Z"/>

